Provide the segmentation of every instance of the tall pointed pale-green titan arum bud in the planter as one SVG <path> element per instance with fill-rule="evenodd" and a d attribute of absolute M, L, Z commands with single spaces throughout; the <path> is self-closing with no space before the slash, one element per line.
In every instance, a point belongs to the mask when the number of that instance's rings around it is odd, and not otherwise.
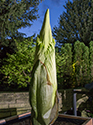
<path fill-rule="evenodd" d="M 55 40 L 47 9 L 36 51 L 29 89 L 32 125 L 52 125 L 58 116 Z"/>

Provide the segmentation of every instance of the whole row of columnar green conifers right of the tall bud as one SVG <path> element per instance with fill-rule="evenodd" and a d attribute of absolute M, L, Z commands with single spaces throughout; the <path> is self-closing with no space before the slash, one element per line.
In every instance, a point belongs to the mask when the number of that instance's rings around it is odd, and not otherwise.
<path fill-rule="evenodd" d="M 93 42 L 89 47 L 83 42 L 76 41 L 73 49 L 71 44 L 66 43 L 61 51 L 56 48 L 56 65 L 59 88 L 77 88 L 84 87 L 85 84 L 93 82 L 92 60 Z M 90 68 L 89 68 L 90 67 Z M 90 77 L 91 76 L 91 77 Z"/>

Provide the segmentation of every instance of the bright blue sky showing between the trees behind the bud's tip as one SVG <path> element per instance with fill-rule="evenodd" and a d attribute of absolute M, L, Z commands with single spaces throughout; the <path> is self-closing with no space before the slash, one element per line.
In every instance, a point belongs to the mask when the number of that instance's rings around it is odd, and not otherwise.
<path fill-rule="evenodd" d="M 25 33 L 27 37 L 33 35 L 34 33 L 39 34 L 42 27 L 45 12 L 48 8 L 50 11 L 50 25 L 51 29 L 53 29 L 55 25 L 58 25 L 58 18 L 60 17 L 60 15 L 63 13 L 63 11 L 66 11 L 63 5 L 66 5 L 65 2 L 67 1 L 68 0 L 44 0 L 38 6 L 38 14 L 40 18 L 32 22 L 31 27 L 21 28 L 18 31 Z"/>

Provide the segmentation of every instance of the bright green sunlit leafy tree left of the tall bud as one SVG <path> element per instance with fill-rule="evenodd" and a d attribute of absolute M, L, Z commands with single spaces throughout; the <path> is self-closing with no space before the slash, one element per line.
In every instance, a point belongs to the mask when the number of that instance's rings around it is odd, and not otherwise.
<path fill-rule="evenodd" d="M 8 85 L 18 85 L 27 87 L 31 79 L 31 70 L 34 60 L 35 45 L 33 39 L 18 42 L 15 40 L 17 51 L 14 54 L 8 54 L 4 59 L 4 65 L 1 67 L 1 73 L 4 74 L 2 81 Z"/>

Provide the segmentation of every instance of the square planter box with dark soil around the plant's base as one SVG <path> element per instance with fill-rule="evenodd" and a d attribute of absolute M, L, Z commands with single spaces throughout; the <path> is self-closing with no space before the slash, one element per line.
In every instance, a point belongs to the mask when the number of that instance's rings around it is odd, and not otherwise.
<path fill-rule="evenodd" d="M 0 120 L 0 125 L 31 125 L 31 112 Z M 93 125 L 92 118 L 59 114 L 53 125 Z"/>

